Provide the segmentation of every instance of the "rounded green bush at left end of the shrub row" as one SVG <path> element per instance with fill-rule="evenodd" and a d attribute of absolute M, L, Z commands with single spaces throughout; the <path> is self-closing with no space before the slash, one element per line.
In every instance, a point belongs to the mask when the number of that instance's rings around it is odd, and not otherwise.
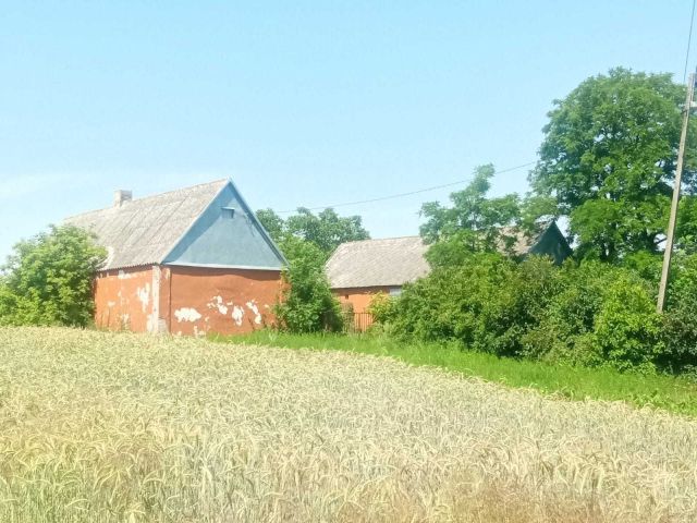
<path fill-rule="evenodd" d="M 500 254 L 472 254 L 457 267 L 436 268 L 406 285 L 392 329 L 424 341 L 454 340 L 499 355 L 518 355 L 557 288 L 551 262 L 522 264 Z"/>

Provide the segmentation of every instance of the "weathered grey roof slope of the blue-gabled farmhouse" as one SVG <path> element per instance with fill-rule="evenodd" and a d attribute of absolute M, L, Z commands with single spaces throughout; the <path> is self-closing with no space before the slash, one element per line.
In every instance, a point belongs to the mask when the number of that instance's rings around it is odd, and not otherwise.
<path fill-rule="evenodd" d="M 228 183 L 217 180 L 133 199 L 66 218 L 65 223 L 97 234 L 108 252 L 103 269 L 159 264 Z"/>

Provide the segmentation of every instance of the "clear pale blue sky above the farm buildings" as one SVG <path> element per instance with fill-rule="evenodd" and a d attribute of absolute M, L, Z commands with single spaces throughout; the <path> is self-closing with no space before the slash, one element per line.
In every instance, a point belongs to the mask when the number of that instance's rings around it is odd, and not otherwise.
<path fill-rule="evenodd" d="M 232 178 L 256 208 L 534 161 L 546 113 L 624 65 L 683 78 L 690 0 L 0 0 L 0 259 L 134 196 Z M 697 62 L 693 51 L 690 68 Z M 527 186 L 502 173 L 494 194 Z M 338 207 L 416 234 L 433 191 Z"/>

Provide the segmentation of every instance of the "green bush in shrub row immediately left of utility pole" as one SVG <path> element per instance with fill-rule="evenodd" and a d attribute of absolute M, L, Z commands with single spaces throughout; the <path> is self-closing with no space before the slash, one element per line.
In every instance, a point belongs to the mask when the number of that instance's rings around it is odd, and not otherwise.
<path fill-rule="evenodd" d="M 663 350 L 661 317 L 645 280 L 628 269 L 566 264 L 559 292 L 524 337 L 528 356 L 652 372 Z"/>

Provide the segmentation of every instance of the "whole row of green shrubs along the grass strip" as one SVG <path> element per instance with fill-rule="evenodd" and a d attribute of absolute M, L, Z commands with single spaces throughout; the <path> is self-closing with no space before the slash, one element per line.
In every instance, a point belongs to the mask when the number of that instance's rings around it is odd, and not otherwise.
<path fill-rule="evenodd" d="M 676 264 L 669 309 L 656 312 L 650 264 L 473 254 L 436 268 L 400 299 L 376 302 L 395 336 L 453 341 L 497 355 L 622 370 L 694 372 L 697 366 L 697 259 Z"/>

